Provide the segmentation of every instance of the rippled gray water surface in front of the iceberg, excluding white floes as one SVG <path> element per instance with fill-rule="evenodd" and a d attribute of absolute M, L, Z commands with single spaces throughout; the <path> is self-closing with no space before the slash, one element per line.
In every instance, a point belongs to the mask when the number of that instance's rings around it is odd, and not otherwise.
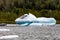
<path fill-rule="evenodd" d="M 60 24 L 56 26 L 28 26 L 28 27 L 6 27 L 1 28 L 10 29 L 10 31 L 0 31 L 0 36 L 18 35 L 18 38 L 0 39 L 0 40 L 60 40 Z"/>

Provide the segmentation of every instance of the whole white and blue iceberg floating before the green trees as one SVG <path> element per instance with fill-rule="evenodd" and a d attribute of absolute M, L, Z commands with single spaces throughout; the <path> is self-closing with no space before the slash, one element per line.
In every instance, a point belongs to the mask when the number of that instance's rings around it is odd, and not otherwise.
<path fill-rule="evenodd" d="M 21 26 L 29 25 L 55 25 L 56 20 L 54 18 L 39 17 L 37 18 L 33 14 L 24 14 L 23 16 L 17 18 L 15 22 Z"/>

